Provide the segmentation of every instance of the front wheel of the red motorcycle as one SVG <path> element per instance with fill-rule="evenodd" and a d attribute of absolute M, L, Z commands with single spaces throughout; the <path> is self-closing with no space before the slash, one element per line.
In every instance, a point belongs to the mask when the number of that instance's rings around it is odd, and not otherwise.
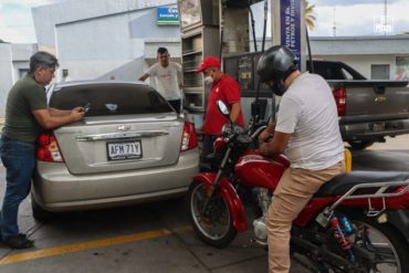
<path fill-rule="evenodd" d="M 206 210 L 203 207 L 208 202 Z M 214 248 L 224 248 L 237 235 L 229 207 L 221 195 L 210 198 L 202 183 L 193 181 L 188 192 L 190 221 L 198 238 Z"/>

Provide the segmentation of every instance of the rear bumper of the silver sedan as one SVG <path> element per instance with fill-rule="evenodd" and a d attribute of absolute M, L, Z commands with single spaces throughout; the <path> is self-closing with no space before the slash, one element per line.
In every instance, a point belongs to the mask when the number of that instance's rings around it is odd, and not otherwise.
<path fill-rule="evenodd" d="M 181 196 L 198 171 L 198 149 L 181 153 L 171 166 L 93 175 L 73 175 L 65 164 L 39 161 L 32 192 L 49 211 L 108 208 Z"/>

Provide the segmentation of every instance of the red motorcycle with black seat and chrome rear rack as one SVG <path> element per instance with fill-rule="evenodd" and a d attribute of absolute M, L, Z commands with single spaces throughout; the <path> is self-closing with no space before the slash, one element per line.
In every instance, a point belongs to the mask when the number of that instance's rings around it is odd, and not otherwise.
<path fill-rule="evenodd" d="M 219 109 L 229 117 L 223 103 Z M 227 246 L 253 218 L 254 241 L 266 245 L 265 214 L 290 162 L 266 158 L 252 143 L 265 128 L 226 125 L 214 141 L 218 169 L 200 172 L 188 207 L 200 240 Z M 255 206 L 255 217 L 244 204 Z M 353 171 L 326 182 L 293 222 L 291 253 L 314 272 L 409 272 L 409 174 Z M 405 262 L 406 261 L 406 262 Z"/>

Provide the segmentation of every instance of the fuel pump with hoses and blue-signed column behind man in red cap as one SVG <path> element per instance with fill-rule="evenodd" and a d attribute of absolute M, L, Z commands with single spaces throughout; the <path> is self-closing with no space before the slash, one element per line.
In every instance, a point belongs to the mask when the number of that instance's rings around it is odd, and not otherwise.
<path fill-rule="evenodd" d="M 199 117 L 204 115 L 209 88 L 193 69 L 203 57 L 213 55 L 220 56 L 222 70 L 239 82 L 247 122 L 264 119 L 274 113 L 274 96 L 266 85 L 259 83 L 256 64 L 270 36 L 271 44 L 286 44 L 296 52 L 300 69 L 305 69 L 302 7 L 302 0 L 178 0 L 187 111 Z M 262 25 L 261 46 L 255 25 Z"/>

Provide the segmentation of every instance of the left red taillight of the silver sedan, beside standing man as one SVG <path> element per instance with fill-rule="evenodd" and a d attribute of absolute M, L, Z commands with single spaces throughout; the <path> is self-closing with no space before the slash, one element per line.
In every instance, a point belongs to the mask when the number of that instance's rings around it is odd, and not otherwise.
<path fill-rule="evenodd" d="M 36 159 L 48 162 L 63 162 L 59 144 L 52 133 L 43 133 L 38 138 Z"/>

